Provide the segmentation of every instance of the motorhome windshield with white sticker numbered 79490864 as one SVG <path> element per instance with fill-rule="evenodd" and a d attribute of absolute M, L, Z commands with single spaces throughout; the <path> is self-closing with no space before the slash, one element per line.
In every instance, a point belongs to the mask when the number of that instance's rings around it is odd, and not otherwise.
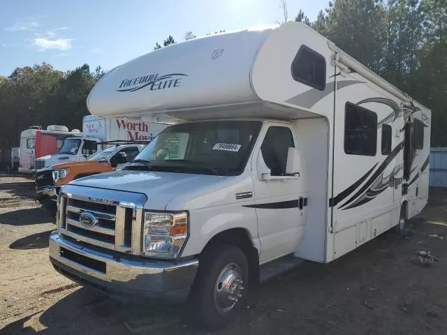
<path fill-rule="evenodd" d="M 260 121 L 202 121 L 162 131 L 126 170 L 237 175 L 244 170 Z"/>

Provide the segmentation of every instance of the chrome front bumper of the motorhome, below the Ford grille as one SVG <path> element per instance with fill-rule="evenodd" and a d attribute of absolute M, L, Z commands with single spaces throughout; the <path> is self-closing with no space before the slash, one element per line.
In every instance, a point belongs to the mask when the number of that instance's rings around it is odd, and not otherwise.
<path fill-rule="evenodd" d="M 50 261 L 59 273 L 106 295 L 167 304 L 186 301 L 198 269 L 196 259 L 161 261 L 98 251 L 80 246 L 57 231 L 50 235 Z"/>

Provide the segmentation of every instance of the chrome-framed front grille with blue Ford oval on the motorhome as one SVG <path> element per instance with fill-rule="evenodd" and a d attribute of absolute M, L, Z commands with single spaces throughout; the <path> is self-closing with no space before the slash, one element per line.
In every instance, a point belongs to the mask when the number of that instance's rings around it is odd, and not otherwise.
<path fill-rule="evenodd" d="M 59 233 L 82 244 L 140 255 L 146 200 L 140 193 L 67 184 L 59 194 Z"/>

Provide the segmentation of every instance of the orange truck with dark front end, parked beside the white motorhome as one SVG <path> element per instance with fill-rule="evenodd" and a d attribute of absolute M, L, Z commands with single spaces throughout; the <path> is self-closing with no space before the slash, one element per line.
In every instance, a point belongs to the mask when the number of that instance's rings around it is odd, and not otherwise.
<path fill-rule="evenodd" d="M 133 161 L 143 147 L 143 144 L 117 145 L 90 156 L 87 161 L 59 163 L 38 170 L 34 174 L 36 197 L 45 207 L 54 207 L 62 186 L 91 174 L 124 168 Z"/>

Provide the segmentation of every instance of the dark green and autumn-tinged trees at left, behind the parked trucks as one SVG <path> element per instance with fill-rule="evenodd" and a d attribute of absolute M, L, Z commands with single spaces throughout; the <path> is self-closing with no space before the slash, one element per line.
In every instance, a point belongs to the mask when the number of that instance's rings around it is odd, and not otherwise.
<path fill-rule="evenodd" d="M 20 132 L 32 125 L 80 128 L 89 114 L 87 95 L 103 74 L 101 66 L 94 73 L 87 64 L 64 73 L 43 63 L 0 77 L 0 148 L 17 146 Z"/>

